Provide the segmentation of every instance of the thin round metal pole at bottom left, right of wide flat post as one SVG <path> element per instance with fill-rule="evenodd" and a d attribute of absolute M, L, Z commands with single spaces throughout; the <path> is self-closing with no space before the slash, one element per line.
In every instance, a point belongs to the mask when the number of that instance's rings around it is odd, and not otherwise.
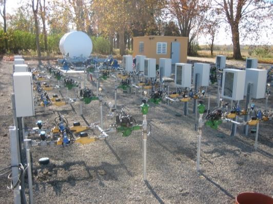
<path fill-rule="evenodd" d="M 27 165 L 28 165 L 28 189 L 29 189 L 29 203 L 33 204 L 33 187 L 32 187 L 32 172 L 31 172 L 31 158 L 30 158 L 30 143 L 31 139 L 25 139 L 25 149 L 27 156 Z"/>

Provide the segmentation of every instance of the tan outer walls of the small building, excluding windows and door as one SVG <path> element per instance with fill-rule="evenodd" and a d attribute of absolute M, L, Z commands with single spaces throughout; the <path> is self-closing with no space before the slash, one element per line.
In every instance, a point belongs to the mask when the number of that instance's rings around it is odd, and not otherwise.
<path fill-rule="evenodd" d="M 159 64 L 159 58 L 171 57 L 171 42 L 180 42 L 180 63 L 187 63 L 187 50 L 188 50 L 188 37 L 178 36 L 141 36 L 133 37 L 133 57 L 135 55 L 146 55 L 147 58 L 157 59 Z M 144 42 L 144 52 L 139 53 L 139 43 Z M 157 43 L 167 43 L 167 54 L 157 54 Z"/>

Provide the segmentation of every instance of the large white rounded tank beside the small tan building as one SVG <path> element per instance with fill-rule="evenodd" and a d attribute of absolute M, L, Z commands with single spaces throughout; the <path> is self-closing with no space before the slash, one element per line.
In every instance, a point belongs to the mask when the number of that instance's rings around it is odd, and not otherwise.
<path fill-rule="evenodd" d="M 59 48 L 64 56 L 89 57 L 92 52 L 92 40 L 82 31 L 72 31 L 64 34 L 59 43 Z"/>

